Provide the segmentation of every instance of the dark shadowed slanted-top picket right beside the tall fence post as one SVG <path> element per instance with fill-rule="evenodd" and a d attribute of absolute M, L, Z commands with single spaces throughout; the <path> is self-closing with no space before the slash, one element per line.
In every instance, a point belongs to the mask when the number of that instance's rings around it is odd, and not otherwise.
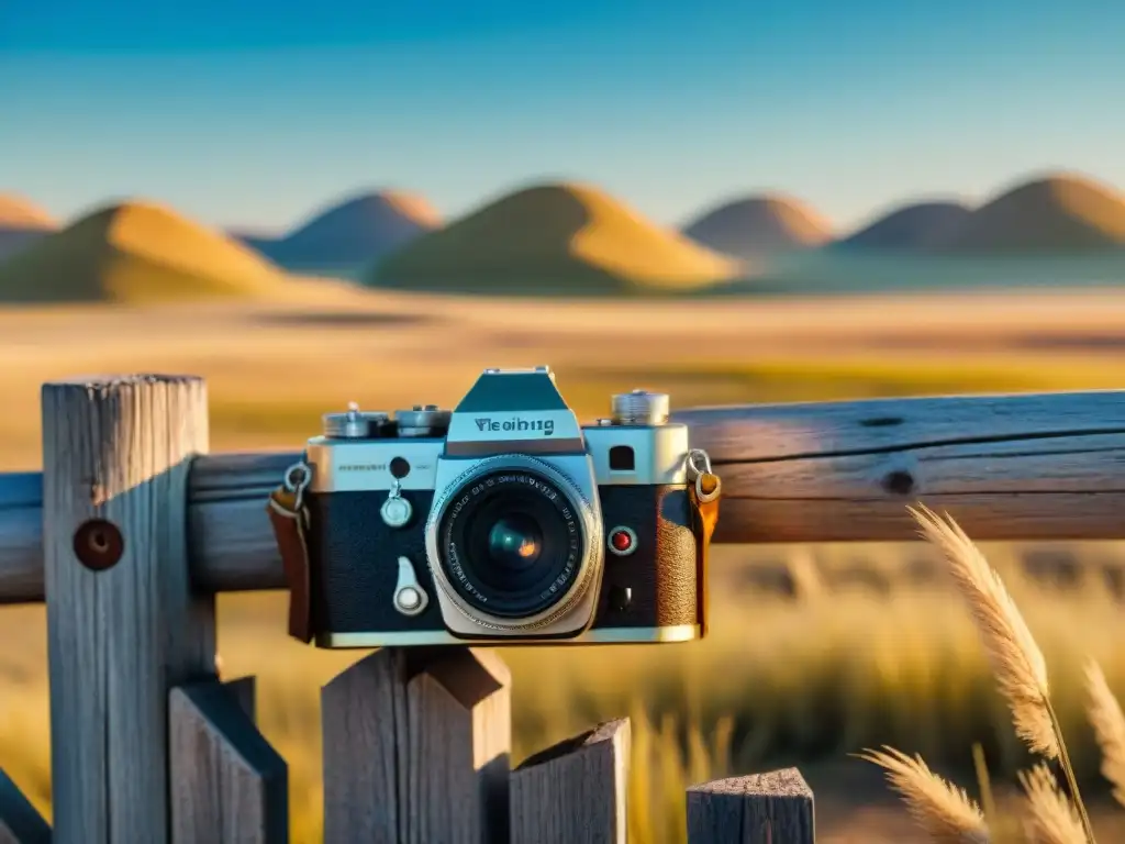
<path fill-rule="evenodd" d="M 252 688 L 244 677 L 172 690 L 172 844 L 289 841 L 288 767 L 246 712 Z"/>

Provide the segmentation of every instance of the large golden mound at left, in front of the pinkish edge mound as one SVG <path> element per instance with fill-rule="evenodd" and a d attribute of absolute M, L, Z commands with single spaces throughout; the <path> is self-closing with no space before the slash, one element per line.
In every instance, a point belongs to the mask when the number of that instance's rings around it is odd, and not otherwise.
<path fill-rule="evenodd" d="M 268 294 L 280 273 L 159 205 L 97 210 L 0 263 L 3 302 L 151 302 Z"/>

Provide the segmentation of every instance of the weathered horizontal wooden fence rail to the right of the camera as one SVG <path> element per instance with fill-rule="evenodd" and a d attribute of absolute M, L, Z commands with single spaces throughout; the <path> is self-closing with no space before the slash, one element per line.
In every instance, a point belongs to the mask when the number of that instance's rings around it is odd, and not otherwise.
<path fill-rule="evenodd" d="M 978 541 L 1119 539 L 1125 392 L 686 411 L 723 481 L 716 540 L 916 538 L 906 505 Z M 1118 467 L 1122 467 L 1119 470 Z"/>

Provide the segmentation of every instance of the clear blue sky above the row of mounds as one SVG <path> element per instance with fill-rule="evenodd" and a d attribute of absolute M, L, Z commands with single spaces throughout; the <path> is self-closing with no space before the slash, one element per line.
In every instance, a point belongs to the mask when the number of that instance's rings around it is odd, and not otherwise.
<path fill-rule="evenodd" d="M 1125 188 L 1123 43 L 1108 0 L 0 0 L 0 190 L 284 227 L 575 179 L 847 226 L 1044 169 Z"/>

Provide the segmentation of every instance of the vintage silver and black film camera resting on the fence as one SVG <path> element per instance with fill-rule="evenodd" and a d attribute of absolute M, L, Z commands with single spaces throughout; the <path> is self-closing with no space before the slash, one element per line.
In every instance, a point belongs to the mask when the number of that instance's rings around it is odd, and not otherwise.
<path fill-rule="evenodd" d="M 700 638 L 688 452 L 666 395 L 584 427 L 548 367 L 486 369 L 452 412 L 327 414 L 305 451 L 316 644 Z"/>

